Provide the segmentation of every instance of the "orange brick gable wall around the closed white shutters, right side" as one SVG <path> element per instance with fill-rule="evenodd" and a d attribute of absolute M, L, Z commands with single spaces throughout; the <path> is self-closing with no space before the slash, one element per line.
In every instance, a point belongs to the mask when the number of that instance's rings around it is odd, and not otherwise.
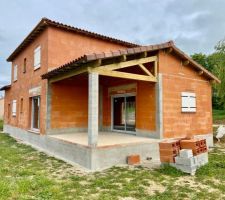
<path fill-rule="evenodd" d="M 172 54 L 159 54 L 159 72 L 163 75 L 164 137 L 212 133 L 211 85 L 191 66 L 182 66 Z M 196 93 L 196 113 L 181 112 L 181 92 Z"/>

